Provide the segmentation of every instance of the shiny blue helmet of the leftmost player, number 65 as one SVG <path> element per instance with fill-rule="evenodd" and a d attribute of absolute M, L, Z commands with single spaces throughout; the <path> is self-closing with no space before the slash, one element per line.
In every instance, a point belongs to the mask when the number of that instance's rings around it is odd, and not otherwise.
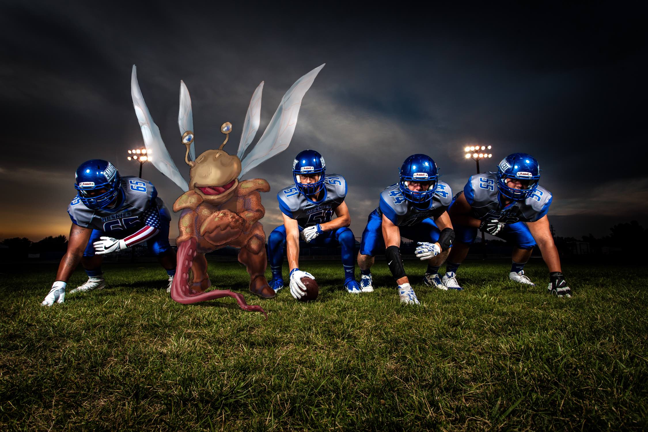
<path fill-rule="evenodd" d="M 75 189 L 88 209 L 104 209 L 117 198 L 121 177 L 108 161 L 92 159 L 76 168 Z"/>

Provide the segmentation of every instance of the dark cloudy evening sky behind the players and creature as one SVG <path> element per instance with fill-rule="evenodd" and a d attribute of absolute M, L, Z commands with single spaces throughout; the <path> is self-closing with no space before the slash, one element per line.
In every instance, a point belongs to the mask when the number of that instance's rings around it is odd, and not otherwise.
<path fill-rule="evenodd" d="M 126 150 L 143 145 L 130 97 L 139 84 L 176 165 L 179 82 L 189 87 L 196 152 L 234 125 L 235 153 L 255 87 L 265 81 L 261 126 L 283 93 L 327 63 L 304 98 L 285 152 L 246 177 L 268 179 L 269 233 L 276 192 L 292 159 L 321 152 L 349 182 L 351 228 L 362 234 L 382 188 L 411 153 L 428 153 L 454 191 L 475 170 L 463 147 L 492 145 L 540 161 L 558 235 L 603 235 L 614 223 L 648 224 L 645 3 L 481 6 L 390 4 L 212 6 L 187 1 L 0 5 L 0 238 L 66 234 L 76 166 L 108 159 L 137 175 Z M 449 3 L 449 2 L 445 2 Z M 324 6 L 325 4 L 325 6 Z M 145 165 L 170 205 L 181 191 Z M 172 236 L 177 233 L 177 218 Z"/>

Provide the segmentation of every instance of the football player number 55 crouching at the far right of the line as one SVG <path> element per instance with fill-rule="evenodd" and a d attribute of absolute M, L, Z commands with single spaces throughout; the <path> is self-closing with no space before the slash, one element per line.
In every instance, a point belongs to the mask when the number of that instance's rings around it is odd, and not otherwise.
<path fill-rule="evenodd" d="M 516 245 L 509 278 L 522 284 L 535 285 L 524 275 L 524 265 L 537 244 L 549 267 L 548 291 L 571 297 L 547 218 L 551 192 L 538 185 L 539 179 L 538 161 L 527 153 L 508 155 L 496 173 L 470 177 L 448 211 L 457 240 L 446 262 L 445 286 L 459 286 L 457 269 L 480 230 Z"/>

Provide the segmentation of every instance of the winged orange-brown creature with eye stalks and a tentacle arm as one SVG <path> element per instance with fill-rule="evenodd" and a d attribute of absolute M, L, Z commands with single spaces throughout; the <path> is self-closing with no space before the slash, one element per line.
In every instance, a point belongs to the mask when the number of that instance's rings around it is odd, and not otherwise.
<path fill-rule="evenodd" d="M 218 150 L 207 150 L 195 157 L 191 98 L 187 86 L 180 82 L 178 126 L 181 142 L 186 146 L 185 163 L 191 167 L 187 184 L 146 108 L 137 84 L 137 69 L 133 65 L 131 95 L 147 154 L 152 153 L 153 165 L 185 191 L 173 206 L 174 212 L 181 211 L 176 240 L 178 269 L 171 288 L 174 301 L 189 304 L 229 296 L 237 299 L 243 310 L 265 313 L 260 306 L 247 304 L 240 293 L 230 290 L 205 292 L 211 286 L 205 253 L 227 245 L 240 247 L 238 261 L 248 270 L 249 290 L 260 297 L 274 297 L 275 292 L 264 276 L 266 234 L 259 222 L 265 214 L 259 192 L 268 192 L 270 185 L 264 179 L 240 180 L 240 177 L 286 150 L 297 126 L 301 100 L 323 67 L 321 65 L 305 74 L 288 89 L 263 135 L 249 149 L 260 122 L 264 83 L 259 84 L 248 107 L 237 155 L 223 150 L 232 130 L 231 123 L 226 122 L 220 129 L 226 134 L 226 139 Z"/>

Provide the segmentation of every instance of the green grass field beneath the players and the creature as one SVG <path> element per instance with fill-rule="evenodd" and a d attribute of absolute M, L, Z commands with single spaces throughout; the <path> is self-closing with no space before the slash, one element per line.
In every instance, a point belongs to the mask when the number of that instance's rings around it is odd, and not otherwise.
<path fill-rule="evenodd" d="M 44 308 L 55 268 L 0 269 L 1 430 L 648 428 L 642 267 L 566 265 L 565 300 L 539 260 L 535 288 L 506 262 L 468 262 L 461 292 L 406 262 L 422 305 L 401 306 L 384 262 L 358 297 L 340 264 L 308 263 L 310 304 L 257 299 L 239 264 L 210 262 L 214 287 L 268 321 L 229 298 L 171 301 L 157 264 L 105 265 L 108 288 Z"/>

